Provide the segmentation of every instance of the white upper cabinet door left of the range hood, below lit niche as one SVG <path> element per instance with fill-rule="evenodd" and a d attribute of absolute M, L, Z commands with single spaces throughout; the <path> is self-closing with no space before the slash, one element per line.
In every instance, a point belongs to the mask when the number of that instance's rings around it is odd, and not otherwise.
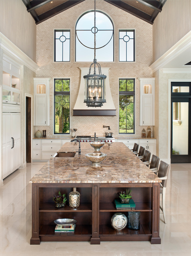
<path fill-rule="evenodd" d="M 36 96 L 36 125 L 46 125 L 46 95 Z"/>

